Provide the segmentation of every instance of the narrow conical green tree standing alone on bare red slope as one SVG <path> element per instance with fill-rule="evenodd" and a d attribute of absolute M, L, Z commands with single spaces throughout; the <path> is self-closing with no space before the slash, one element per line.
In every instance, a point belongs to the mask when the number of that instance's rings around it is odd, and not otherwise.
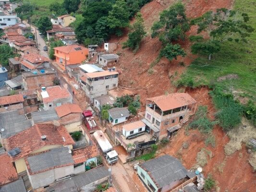
<path fill-rule="evenodd" d="M 134 24 L 130 27 L 128 40 L 124 43 L 124 47 L 129 47 L 134 51 L 137 51 L 146 32 L 144 30 L 143 18 L 140 12 L 137 13 L 135 19 Z"/>

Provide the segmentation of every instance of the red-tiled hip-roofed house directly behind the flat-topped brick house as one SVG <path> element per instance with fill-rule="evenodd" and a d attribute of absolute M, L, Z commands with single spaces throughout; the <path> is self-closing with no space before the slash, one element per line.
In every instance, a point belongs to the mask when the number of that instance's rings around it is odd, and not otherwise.
<path fill-rule="evenodd" d="M 29 53 L 23 56 L 21 61 L 21 68 L 25 72 L 33 70 L 42 70 L 50 68 L 50 60 L 44 56 L 36 53 Z"/>

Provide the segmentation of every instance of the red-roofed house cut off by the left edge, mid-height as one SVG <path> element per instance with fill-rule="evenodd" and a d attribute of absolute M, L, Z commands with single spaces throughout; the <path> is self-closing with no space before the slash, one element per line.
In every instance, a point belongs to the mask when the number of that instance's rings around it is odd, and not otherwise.
<path fill-rule="evenodd" d="M 24 98 L 22 94 L 0 97 L 0 112 L 18 110 L 19 114 L 24 114 Z"/>

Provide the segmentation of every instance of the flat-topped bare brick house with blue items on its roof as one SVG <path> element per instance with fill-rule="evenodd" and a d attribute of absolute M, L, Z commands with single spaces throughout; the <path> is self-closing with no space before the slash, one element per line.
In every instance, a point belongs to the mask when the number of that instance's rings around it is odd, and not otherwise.
<path fill-rule="evenodd" d="M 24 72 L 22 73 L 22 76 L 25 90 L 37 90 L 40 89 L 42 86 L 53 86 L 53 81 L 56 77 L 56 74 L 52 70 L 44 70 L 40 72 Z"/>

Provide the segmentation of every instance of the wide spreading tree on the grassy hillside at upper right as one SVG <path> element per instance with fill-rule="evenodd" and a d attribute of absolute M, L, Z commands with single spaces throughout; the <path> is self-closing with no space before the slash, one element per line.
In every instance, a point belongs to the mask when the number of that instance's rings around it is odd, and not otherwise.
<path fill-rule="evenodd" d="M 208 59 L 211 60 L 211 55 L 219 52 L 224 41 L 247 42 L 246 37 L 254 31 L 253 27 L 246 23 L 248 21 L 249 16 L 246 13 L 240 16 L 226 8 L 218 9 L 217 12 L 206 12 L 203 16 L 192 20 L 191 24 L 199 26 L 197 33 L 206 31 L 210 38 L 202 40 L 200 37 L 200 41 L 190 39 L 195 42 L 192 53 L 208 55 Z"/>

